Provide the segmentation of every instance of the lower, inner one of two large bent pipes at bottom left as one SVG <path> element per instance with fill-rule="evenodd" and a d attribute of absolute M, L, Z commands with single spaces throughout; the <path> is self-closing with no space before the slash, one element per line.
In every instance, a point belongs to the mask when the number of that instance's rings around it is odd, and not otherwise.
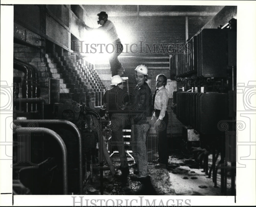
<path fill-rule="evenodd" d="M 18 132 L 28 132 L 28 128 L 27 127 L 20 127 Z M 29 132 L 46 133 L 46 134 L 52 136 L 54 139 L 57 140 L 58 144 L 61 147 L 61 151 L 62 151 L 63 194 L 67 195 L 68 194 L 68 161 L 67 161 L 67 148 L 66 148 L 66 145 L 65 145 L 64 141 L 62 140 L 60 135 L 58 135 L 55 131 L 52 131 L 48 128 L 38 127 L 36 129 L 34 129 L 33 131 L 29 131 Z"/>

